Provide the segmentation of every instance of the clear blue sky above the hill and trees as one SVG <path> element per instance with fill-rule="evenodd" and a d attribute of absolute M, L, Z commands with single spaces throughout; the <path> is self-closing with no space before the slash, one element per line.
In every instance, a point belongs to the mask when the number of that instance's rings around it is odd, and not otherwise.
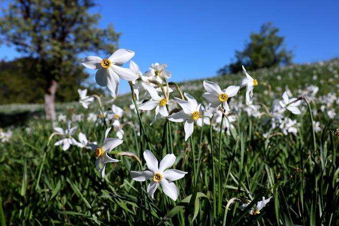
<path fill-rule="evenodd" d="M 339 57 L 338 0 L 102 0 L 93 12 L 100 26 L 112 23 L 122 36 L 120 48 L 136 52 L 133 60 L 146 71 L 167 63 L 171 80 L 208 77 L 229 63 L 251 32 L 273 22 L 295 53 L 295 63 Z M 20 56 L 0 47 L 0 59 Z M 106 57 L 106 56 L 102 56 Z M 128 67 L 128 65 L 126 65 Z M 88 71 L 94 78 L 95 71 Z M 121 82 L 120 93 L 128 91 Z"/>

